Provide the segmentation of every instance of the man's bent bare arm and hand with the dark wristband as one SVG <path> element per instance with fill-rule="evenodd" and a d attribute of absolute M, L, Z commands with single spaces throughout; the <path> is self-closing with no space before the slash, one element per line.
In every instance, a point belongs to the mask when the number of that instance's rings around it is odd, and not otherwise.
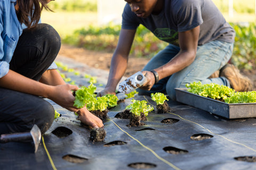
<path fill-rule="evenodd" d="M 196 57 L 200 26 L 185 32 L 179 32 L 180 52 L 165 65 L 154 69 L 158 73 L 159 80 L 177 73 L 193 63 Z M 154 83 L 154 74 L 146 72 L 148 82 L 141 89 L 150 90 Z M 144 74 L 146 74 L 144 73 Z"/>

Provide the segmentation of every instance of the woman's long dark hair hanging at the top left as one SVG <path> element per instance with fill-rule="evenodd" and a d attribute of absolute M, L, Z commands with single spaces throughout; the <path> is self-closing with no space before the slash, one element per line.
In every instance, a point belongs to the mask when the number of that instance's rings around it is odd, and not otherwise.
<path fill-rule="evenodd" d="M 28 28 L 33 28 L 37 25 L 43 8 L 50 10 L 46 0 L 17 0 L 17 5 L 19 7 L 17 11 L 18 20 Z"/>

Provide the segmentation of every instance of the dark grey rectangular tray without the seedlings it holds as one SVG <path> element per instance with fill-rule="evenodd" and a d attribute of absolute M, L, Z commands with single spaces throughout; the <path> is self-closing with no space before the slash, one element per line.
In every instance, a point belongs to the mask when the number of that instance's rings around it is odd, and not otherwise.
<path fill-rule="evenodd" d="M 226 118 L 256 117 L 256 103 L 227 104 L 222 101 L 199 96 L 187 88 L 175 88 L 177 101 Z"/>

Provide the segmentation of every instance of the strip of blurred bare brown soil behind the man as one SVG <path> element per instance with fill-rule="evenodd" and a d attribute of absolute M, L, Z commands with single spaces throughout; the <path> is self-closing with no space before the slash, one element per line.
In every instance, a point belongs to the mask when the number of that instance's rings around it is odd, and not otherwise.
<path fill-rule="evenodd" d="M 62 44 L 59 56 L 65 56 L 73 58 L 77 62 L 85 63 L 91 67 L 97 69 L 109 70 L 111 57 L 113 53 L 97 52 L 93 50 L 86 50 L 84 48 L 78 48 L 66 44 Z M 134 56 L 129 57 L 128 67 L 125 73 L 125 77 L 140 71 L 143 66 L 149 61 L 148 58 L 136 58 Z M 243 75 L 249 77 L 253 82 L 253 90 L 256 90 L 256 70 L 243 71 Z"/>

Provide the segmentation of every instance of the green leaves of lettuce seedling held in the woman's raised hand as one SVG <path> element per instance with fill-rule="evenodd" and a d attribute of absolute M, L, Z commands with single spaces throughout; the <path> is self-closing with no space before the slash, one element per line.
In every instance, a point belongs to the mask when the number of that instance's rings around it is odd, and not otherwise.
<path fill-rule="evenodd" d="M 83 108 L 86 104 L 91 103 L 96 95 L 94 94 L 97 89 L 92 83 L 88 87 L 81 87 L 81 89 L 76 90 L 74 106 L 77 108 Z"/>

